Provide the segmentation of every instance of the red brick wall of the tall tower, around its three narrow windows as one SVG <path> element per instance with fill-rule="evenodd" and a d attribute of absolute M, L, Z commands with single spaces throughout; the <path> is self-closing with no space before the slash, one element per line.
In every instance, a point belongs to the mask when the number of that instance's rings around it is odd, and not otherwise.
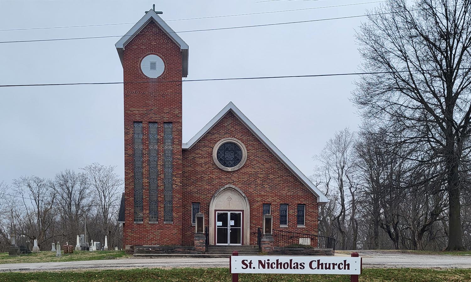
<path fill-rule="evenodd" d="M 140 70 L 146 55 L 158 55 L 165 63 L 159 78 Z M 181 244 L 181 112 L 182 62 L 180 48 L 150 22 L 124 49 L 124 81 L 156 81 L 124 84 L 125 224 L 123 244 Z M 177 80 L 178 82 L 159 82 Z M 143 125 L 143 223 L 134 223 L 133 122 Z M 148 123 L 158 123 L 158 223 L 149 224 Z M 173 123 L 173 223 L 163 223 L 163 123 Z M 104 125 L 106 126 L 106 125 Z"/>

